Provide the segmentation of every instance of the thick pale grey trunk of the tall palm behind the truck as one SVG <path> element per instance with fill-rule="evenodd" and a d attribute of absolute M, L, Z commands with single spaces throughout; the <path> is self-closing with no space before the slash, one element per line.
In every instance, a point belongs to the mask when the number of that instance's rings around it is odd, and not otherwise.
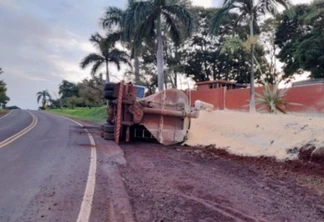
<path fill-rule="evenodd" d="M 161 15 L 158 18 L 157 24 L 157 53 L 156 53 L 156 61 L 157 61 L 157 71 L 158 71 L 158 89 L 162 91 L 164 89 L 164 70 L 163 70 L 163 37 L 161 30 Z"/>

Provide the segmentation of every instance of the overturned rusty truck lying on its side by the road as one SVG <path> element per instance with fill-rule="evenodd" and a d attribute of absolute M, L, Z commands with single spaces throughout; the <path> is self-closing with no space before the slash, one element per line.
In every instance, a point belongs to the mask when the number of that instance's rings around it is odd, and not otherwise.
<path fill-rule="evenodd" d="M 101 136 L 116 143 L 132 139 L 154 139 L 164 145 L 183 142 L 191 118 L 197 118 L 199 110 L 191 108 L 181 90 L 167 89 L 147 97 L 144 91 L 144 87 L 124 81 L 105 85 L 108 117 Z"/>

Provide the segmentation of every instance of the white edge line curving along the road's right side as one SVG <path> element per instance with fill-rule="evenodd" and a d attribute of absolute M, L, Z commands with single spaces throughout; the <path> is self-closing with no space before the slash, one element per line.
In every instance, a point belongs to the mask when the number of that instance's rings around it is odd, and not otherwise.
<path fill-rule="evenodd" d="M 83 125 L 77 121 L 74 121 L 70 118 L 61 116 L 63 118 L 66 118 L 70 120 L 71 122 L 76 123 L 77 125 L 83 127 Z M 88 179 L 87 179 L 87 185 L 86 189 L 84 191 L 84 195 L 82 198 L 82 203 L 78 215 L 77 222 L 88 222 L 91 215 L 91 208 L 92 208 L 92 201 L 96 186 L 96 170 L 97 170 L 97 151 L 96 151 L 96 143 L 93 139 L 93 136 L 89 133 L 87 129 L 84 129 L 84 131 L 87 133 L 90 144 L 91 144 L 91 154 L 90 154 L 90 167 L 89 167 L 89 173 L 88 173 Z"/>

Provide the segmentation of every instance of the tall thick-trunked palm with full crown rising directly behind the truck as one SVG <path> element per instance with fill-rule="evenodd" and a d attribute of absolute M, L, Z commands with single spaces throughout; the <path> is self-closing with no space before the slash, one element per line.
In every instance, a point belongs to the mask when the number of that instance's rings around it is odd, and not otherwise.
<path fill-rule="evenodd" d="M 126 12 L 126 37 L 136 33 L 135 44 L 140 43 L 143 38 L 150 37 L 154 37 L 157 42 L 159 91 L 164 88 L 164 31 L 170 33 L 170 37 L 176 45 L 179 45 L 182 38 L 189 36 L 193 31 L 194 19 L 185 2 L 181 0 L 131 1 Z"/>

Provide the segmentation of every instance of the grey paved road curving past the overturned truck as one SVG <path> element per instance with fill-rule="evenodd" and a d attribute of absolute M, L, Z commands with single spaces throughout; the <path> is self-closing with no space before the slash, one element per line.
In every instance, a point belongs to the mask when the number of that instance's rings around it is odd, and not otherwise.
<path fill-rule="evenodd" d="M 107 166 L 111 165 L 109 152 L 118 154 L 113 143 L 89 130 L 98 146 L 93 151 L 82 127 L 53 114 L 31 113 L 37 125 L 0 148 L 0 221 L 76 221 L 78 216 L 82 221 L 109 220 L 114 207 L 107 183 L 113 184 L 109 180 L 115 172 L 114 168 L 108 172 Z M 1 119 L 0 145 L 32 120 L 23 110 Z M 97 170 L 101 175 L 96 176 Z"/>

